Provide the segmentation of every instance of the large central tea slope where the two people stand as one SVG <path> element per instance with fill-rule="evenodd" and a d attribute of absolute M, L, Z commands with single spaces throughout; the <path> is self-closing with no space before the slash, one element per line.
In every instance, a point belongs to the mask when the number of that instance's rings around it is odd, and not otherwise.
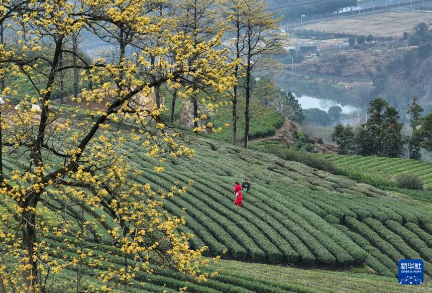
<path fill-rule="evenodd" d="M 155 173 L 152 159 L 131 155 L 144 170 L 138 182 L 169 190 L 173 182 L 188 192 L 165 201 L 185 215 L 196 235 L 193 245 L 211 254 L 295 265 L 351 266 L 367 263 L 395 276 L 402 257 L 424 258 L 432 274 L 430 205 L 358 184 L 353 180 L 284 161 L 273 155 L 197 139 L 190 160 L 171 160 Z M 138 144 L 128 147 L 139 149 Z M 233 204 L 233 182 L 248 177 L 252 189 L 243 209 Z M 186 209 L 184 213 L 182 208 Z"/>

